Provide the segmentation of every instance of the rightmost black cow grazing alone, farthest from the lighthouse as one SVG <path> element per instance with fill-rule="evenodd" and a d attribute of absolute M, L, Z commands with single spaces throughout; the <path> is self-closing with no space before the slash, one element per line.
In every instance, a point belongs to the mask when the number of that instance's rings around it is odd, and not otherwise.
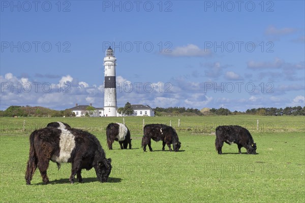
<path fill-rule="evenodd" d="M 256 154 L 256 143 L 246 128 L 238 125 L 223 125 L 216 128 L 215 147 L 219 154 L 222 154 L 222 146 L 235 143 L 238 146 L 238 153 L 241 154 L 240 148 L 245 147 L 247 154 Z"/>

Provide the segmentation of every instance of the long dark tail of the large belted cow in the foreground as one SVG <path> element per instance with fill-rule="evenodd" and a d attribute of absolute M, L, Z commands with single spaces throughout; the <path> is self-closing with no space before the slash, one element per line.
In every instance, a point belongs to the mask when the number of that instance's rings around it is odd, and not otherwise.
<path fill-rule="evenodd" d="M 26 184 L 28 185 L 31 184 L 33 174 L 37 168 L 37 159 L 34 149 L 35 132 L 36 131 L 32 132 L 31 136 L 29 136 L 29 156 L 28 156 L 26 172 L 25 172 L 25 180 L 26 180 Z"/>

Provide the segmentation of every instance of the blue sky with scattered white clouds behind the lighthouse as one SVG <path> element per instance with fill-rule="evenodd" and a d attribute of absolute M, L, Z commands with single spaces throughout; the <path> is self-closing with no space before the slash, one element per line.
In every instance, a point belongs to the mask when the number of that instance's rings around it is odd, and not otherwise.
<path fill-rule="evenodd" d="M 1 1 L 1 105 L 304 106 L 304 1 Z"/>

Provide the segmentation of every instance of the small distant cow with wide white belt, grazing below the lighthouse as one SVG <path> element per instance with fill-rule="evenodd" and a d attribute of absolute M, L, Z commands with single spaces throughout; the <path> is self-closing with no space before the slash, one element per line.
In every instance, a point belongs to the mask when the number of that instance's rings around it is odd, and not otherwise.
<path fill-rule="evenodd" d="M 112 149 L 112 143 L 118 141 L 121 149 L 131 149 L 130 131 L 123 123 L 109 123 L 106 129 L 107 145 Z"/>

